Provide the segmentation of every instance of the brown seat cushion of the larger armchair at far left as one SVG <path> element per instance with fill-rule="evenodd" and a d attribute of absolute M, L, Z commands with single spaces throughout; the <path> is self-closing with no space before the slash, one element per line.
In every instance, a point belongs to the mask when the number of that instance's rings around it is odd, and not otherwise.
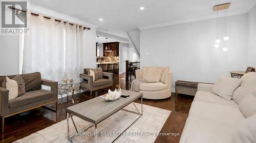
<path fill-rule="evenodd" d="M 9 100 L 9 107 L 15 108 L 37 101 L 45 100 L 48 98 L 54 97 L 54 93 L 47 90 L 35 90 L 26 92 L 24 95 L 21 95 L 17 98 Z"/>

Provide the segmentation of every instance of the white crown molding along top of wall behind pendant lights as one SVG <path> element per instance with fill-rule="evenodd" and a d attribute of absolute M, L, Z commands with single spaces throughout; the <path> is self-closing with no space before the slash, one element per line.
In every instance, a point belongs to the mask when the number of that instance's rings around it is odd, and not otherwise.
<path fill-rule="evenodd" d="M 252 5 L 253 7 L 254 5 Z M 251 8 L 252 8 L 251 7 Z M 250 10 L 250 9 L 249 9 Z M 249 10 L 237 10 L 237 11 L 231 11 L 228 12 L 227 16 L 232 16 L 232 15 L 239 15 L 239 14 L 245 14 Z M 219 12 L 219 17 L 224 17 L 224 11 Z M 188 19 L 180 19 L 180 20 L 174 20 L 174 21 L 169 21 L 165 23 L 159 23 L 159 24 L 153 24 L 153 25 L 146 25 L 146 26 L 140 26 L 138 27 L 139 30 L 146 30 L 149 28 L 156 28 L 156 27 L 163 27 L 163 26 L 168 26 L 168 25 L 175 25 L 175 24 L 182 24 L 182 23 L 188 23 L 188 22 L 195 22 L 195 21 L 201 21 L 201 20 L 207 20 L 207 19 L 214 19 L 216 18 L 216 14 L 208 14 L 204 16 L 199 16 L 199 17 L 193 17 L 193 18 L 188 18 Z"/>

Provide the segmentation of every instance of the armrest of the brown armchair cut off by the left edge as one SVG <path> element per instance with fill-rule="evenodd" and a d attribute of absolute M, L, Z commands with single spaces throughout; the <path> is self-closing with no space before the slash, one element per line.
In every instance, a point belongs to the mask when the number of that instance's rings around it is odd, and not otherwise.
<path fill-rule="evenodd" d="M 9 90 L 0 87 L 0 116 L 5 116 L 9 108 Z"/>

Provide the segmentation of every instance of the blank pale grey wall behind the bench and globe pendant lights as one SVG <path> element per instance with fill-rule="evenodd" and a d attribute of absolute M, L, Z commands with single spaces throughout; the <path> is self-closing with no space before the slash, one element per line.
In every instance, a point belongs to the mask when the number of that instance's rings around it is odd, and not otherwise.
<path fill-rule="evenodd" d="M 220 18 L 220 38 L 224 19 Z M 227 17 L 228 51 L 215 48 L 216 20 L 141 30 L 141 65 L 169 66 L 176 80 L 215 82 L 220 74 L 247 67 L 247 14 Z"/>

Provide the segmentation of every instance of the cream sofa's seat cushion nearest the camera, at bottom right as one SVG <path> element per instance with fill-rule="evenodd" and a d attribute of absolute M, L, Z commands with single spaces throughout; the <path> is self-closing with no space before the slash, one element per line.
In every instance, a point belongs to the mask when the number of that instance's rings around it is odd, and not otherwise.
<path fill-rule="evenodd" d="M 229 126 L 216 120 L 189 116 L 186 120 L 180 143 L 184 143 L 188 137 L 205 143 L 232 143 L 233 131 L 236 128 L 237 126 Z"/>

